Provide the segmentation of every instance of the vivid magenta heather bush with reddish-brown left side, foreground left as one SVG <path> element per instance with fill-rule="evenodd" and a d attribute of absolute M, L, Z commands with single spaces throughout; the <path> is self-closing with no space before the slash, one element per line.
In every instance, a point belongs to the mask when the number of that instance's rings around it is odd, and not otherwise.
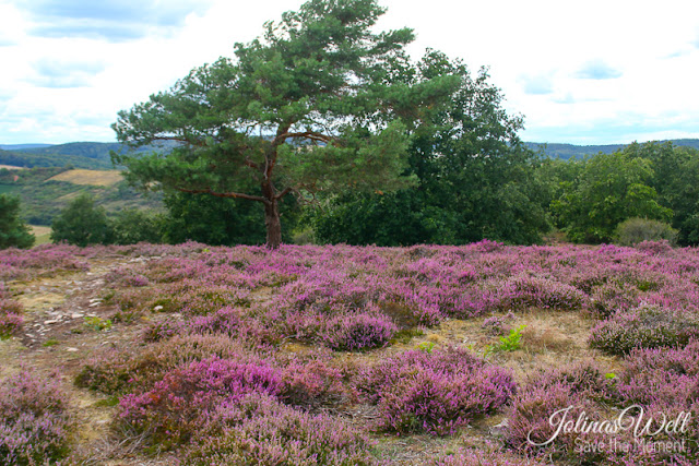
<path fill-rule="evenodd" d="M 260 363 L 210 358 L 165 374 L 155 386 L 120 402 L 119 418 L 138 432 L 147 432 L 163 446 L 189 440 L 208 411 L 249 393 L 279 394 L 276 370 Z"/>

